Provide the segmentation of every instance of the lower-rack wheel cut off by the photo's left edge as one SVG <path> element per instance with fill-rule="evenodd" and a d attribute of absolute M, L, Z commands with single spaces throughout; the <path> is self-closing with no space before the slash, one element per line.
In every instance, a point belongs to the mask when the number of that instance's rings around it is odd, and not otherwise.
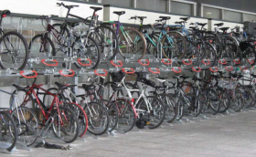
<path fill-rule="evenodd" d="M 16 123 L 5 111 L 0 111 L 0 144 L 1 147 L 11 152 L 16 145 Z"/>

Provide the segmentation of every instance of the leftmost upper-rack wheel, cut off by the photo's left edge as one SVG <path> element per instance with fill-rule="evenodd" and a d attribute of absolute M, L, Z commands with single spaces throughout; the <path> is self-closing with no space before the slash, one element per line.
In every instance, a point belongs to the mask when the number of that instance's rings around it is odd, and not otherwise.
<path fill-rule="evenodd" d="M 27 65 L 28 47 L 26 39 L 16 32 L 7 32 L 0 39 L 0 67 L 23 69 Z"/>

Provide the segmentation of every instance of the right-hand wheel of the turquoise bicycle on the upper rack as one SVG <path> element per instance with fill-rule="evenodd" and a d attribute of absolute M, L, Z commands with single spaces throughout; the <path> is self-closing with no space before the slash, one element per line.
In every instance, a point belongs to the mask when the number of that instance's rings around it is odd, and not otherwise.
<path fill-rule="evenodd" d="M 163 37 L 161 43 L 165 58 L 181 59 L 184 58 L 187 52 L 186 38 L 177 32 L 168 32 L 167 37 Z"/>

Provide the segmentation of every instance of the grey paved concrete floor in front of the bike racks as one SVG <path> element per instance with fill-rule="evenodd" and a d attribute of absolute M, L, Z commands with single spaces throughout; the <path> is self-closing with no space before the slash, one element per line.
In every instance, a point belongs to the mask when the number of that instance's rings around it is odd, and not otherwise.
<path fill-rule="evenodd" d="M 69 151 L 32 148 L 0 156 L 255 157 L 255 142 L 256 110 L 249 110 L 183 124 L 165 123 L 156 130 L 130 131 L 98 139 L 87 136 L 85 141 L 71 143 L 73 149 Z"/>

